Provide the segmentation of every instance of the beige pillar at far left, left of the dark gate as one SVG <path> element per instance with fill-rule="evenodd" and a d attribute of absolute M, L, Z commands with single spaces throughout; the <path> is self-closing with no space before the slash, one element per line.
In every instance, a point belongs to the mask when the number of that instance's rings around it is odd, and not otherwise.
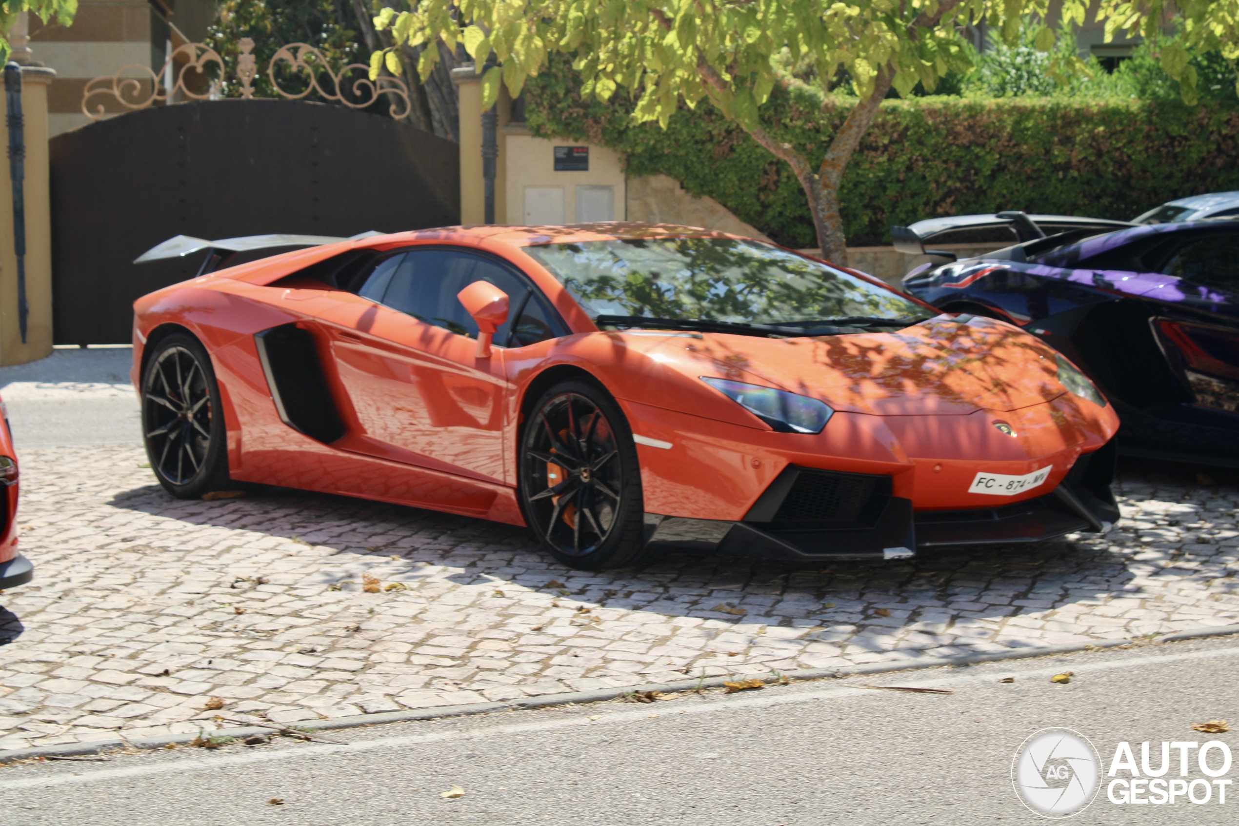
<path fill-rule="evenodd" d="M 24 43 L 22 43 L 24 45 Z M 27 52 L 28 54 L 28 52 Z M 12 234 L 12 182 L 9 180 L 7 130 L 0 130 L 0 365 L 25 364 L 52 353 L 52 206 L 47 154 L 47 87 L 56 72 L 21 69 L 21 108 L 26 144 L 26 343 L 17 321 L 17 256 Z M 7 114 L 7 113 L 5 113 Z"/>

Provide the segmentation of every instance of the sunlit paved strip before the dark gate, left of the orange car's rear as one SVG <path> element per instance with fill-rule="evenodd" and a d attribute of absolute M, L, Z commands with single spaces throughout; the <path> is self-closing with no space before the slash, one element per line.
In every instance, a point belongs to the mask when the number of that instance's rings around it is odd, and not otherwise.
<path fill-rule="evenodd" d="M 57 349 L 48 358 L 0 368 L 0 398 L 17 456 L 32 447 L 138 443 L 138 396 L 128 347 Z"/>

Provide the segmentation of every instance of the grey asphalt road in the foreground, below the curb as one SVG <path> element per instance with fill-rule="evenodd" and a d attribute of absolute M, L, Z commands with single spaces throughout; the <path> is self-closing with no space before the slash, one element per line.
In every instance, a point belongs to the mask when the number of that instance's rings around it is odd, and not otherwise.
<path fill-rule="evenodd" d="M 1016 799 L 1012 757 L 1035 731 L 1064 726 L 1092 741 L 1103 773 L 1100 794 L 1073 824 L 1233 824 L 1239 790 L 1225 804 L 1214 795 L 1201 805 L 1116 805 L 1104 775 L 1119 741 L 1135 743 L 1137 760 L 1142 741 L 1155 754 L 1160 741 L 1239 744 L 1237 734 L 1191 728 L 1239 718 L 1237 665 L 1239 641 L 1223 638 L 332 732 L 349 746 L 280 738 L 10 765 L 0 769 L 0 822 L 1033 824 L 1043 821 Z M 1070 684 L 1052 684 L 1064 670 L 1074 671 Z M 1006 676 L 1015 681 L 999 681 Z M 1225 776 L 1239 776 L 1235 763 Z M 1194 760 L 1188 768 L 1188 781 L 1204 776 Z M 442 798 L 453 785 L 465 795 Z"/>

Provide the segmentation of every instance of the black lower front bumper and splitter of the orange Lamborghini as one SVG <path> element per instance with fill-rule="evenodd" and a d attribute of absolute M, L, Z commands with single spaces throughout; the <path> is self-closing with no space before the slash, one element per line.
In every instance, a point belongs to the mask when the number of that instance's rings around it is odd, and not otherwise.
<path fill-rule="evenodd" d="M 1115 443 L 1088 453 L 1051 493 L 1009 505 L 913 513 L 890 477 L 787 468 L 742 520 L 646 514 L 652 549 L 788 561 L 907 559 L 918 547 L 1035 542 L 1108 531 Z"/>

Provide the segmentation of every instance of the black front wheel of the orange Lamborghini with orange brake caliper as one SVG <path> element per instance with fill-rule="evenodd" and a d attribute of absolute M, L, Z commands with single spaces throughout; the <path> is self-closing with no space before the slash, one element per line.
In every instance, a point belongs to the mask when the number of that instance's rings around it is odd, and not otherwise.
<path fill-rule="evenodd" d="M 643 556 L 637 446 L 618 405 L 585 381 L 534 405 L 520 446 L 525 521 L 560 562 L 586 571 Z"/>

